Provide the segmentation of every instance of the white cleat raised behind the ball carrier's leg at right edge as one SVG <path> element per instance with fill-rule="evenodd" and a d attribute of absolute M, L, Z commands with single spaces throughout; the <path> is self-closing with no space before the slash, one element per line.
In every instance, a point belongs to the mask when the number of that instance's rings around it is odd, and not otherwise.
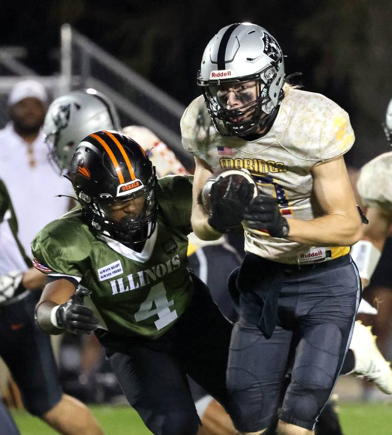
<path fill-rule="evenodd" d="M 350 373 L 373 381 L 381 391 L 392 394 L 391 364 L 378 350 L 371 326 L 355 322 L 350 349 L 355 358 L 354 369 Z"/>

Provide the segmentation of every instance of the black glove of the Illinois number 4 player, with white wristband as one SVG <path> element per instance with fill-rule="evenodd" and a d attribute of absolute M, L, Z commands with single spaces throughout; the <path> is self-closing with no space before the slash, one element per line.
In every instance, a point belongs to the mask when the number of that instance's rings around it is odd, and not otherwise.
<path fill-rule="evenodd" d="M 98 327 L 98 319 L 90 308 L 83 306 L 83 299 L 91 291 L 79 287 L 67 303 L 60 305 L 56 311 L 59 327 L 74 334 L 91 334 Z"/>

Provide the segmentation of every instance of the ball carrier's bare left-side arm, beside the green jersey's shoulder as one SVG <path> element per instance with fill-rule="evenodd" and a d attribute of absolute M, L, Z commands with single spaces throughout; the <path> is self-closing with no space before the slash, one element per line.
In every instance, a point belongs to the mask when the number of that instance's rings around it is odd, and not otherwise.
<path fill-rule="evenodd" d="M 208 224 L 208 214 L 201 202 L 201 189 L 213 171 L 207 163 L 197 157 L 195 157 L 195 163 L 196 169 L 192 189 L 192 228 L 200 239 L 216 240 L 221 237 L 221 233 Z"/>

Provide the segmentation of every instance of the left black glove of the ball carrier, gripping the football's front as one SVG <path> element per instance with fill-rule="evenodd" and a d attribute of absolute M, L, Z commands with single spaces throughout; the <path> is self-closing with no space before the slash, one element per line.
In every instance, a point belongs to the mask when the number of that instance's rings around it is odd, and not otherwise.
<path fill-rule="evenodd" d="M 221 190 L 227 183 L 220 177 L 210 190 L 210 216 L 208 224 L 220 233 L 229 233 L 244 219 L 245 207 L 253 197 L 254 186 L 245 178 L 234 183 L 230 175 L 224 194 Z"/>

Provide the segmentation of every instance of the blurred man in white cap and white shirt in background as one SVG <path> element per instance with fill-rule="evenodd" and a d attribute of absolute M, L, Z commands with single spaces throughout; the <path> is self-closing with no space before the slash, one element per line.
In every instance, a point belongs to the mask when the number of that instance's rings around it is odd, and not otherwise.
<path fill-rule="evenodd" d="M 42 131 L 47 103 L 40 82 L 17 83 L 8 99 L 11 120 L 0 131 L 0 177 L 14 203 L 20 240 L 28 255 L 35 234 L 68 209 L 67 198 L 56 195 L 69 194 L 72 187 L 49 167 Z"/>

